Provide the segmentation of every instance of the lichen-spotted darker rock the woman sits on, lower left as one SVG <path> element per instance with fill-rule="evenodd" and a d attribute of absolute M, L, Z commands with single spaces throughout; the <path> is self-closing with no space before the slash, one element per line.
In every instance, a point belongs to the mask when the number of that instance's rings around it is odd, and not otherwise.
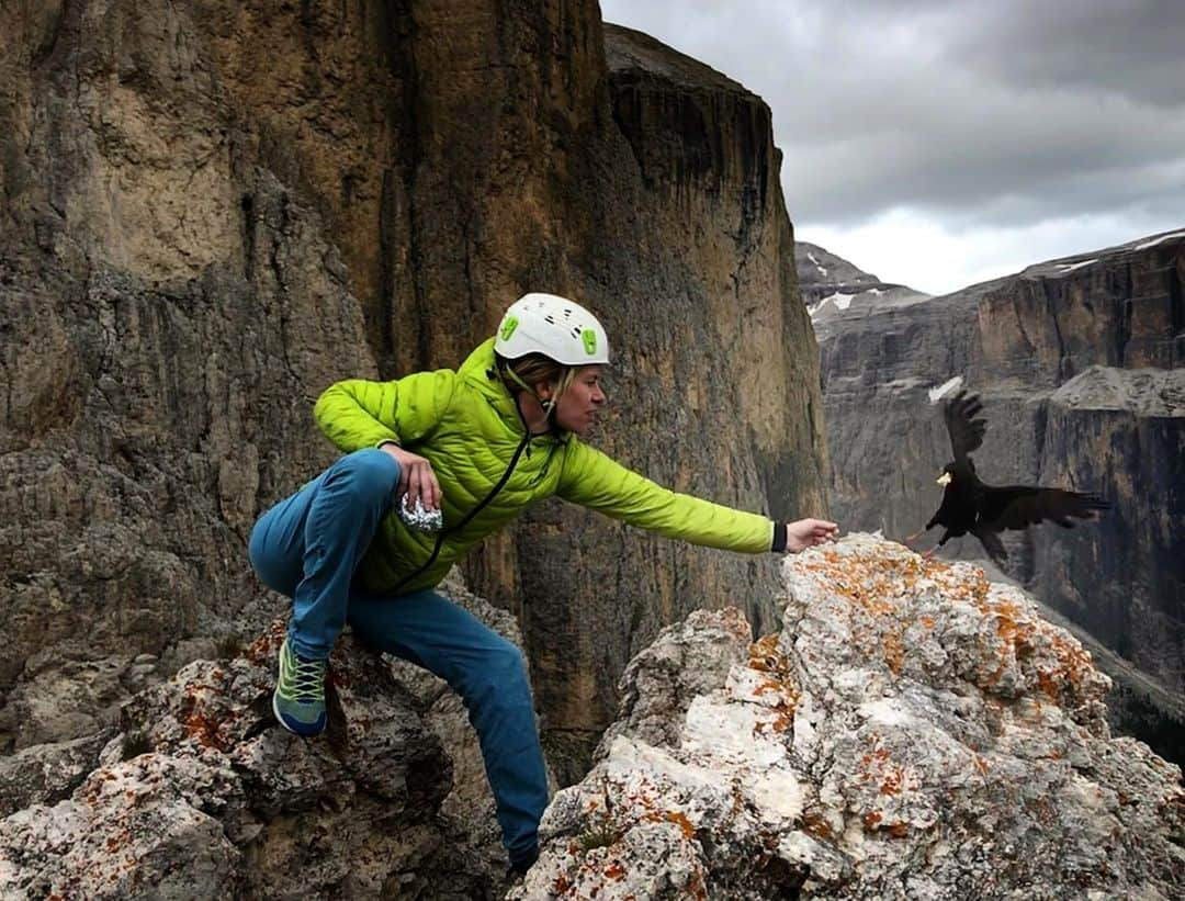
<path fill-rule="evenodd" d="M 518 640 L 507 613 L 450 593 Z M 332 659 L 329 730 L 299 739 L 270 713 L 282 635 L 276 621 L 239 657 L 184 666 L 70 756 L 21 752 L 23 774 L 46 778 L 4 771 L 24 791 L 0 820 L 0 895 L 501 894 L 493 800 L 456 696 L 347 638 Z"/>

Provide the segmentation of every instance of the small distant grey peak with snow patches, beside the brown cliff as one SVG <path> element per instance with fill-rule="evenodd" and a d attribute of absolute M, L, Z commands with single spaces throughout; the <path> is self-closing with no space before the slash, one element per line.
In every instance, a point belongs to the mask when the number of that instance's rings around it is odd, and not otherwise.
<path fill-rule="evenodd" d="M 832 319 L 857 308 L 908 306 L 929 300 L 929 294 L 880 281 L 841 256 L 818 244 L 794 242 L 794 260 L 799 270 L 799 290 L 814 321 Z"/>

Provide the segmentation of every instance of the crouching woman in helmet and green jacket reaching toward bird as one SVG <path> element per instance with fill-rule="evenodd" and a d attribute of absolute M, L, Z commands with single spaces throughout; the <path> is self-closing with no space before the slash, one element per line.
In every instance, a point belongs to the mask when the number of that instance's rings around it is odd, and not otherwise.
<path fill-rule="evenodd" d="M 752 554 L 799 551 L 837 529 L 677 494 L 581 442 L 606 402 L 608 363 L 591 313 L 527 294 L 456 372 L 340 382 L 314 413 L 346 455 L 251 535 L 260 577 L 293 599 L 273 697 L 280 723 L 299 735 L 325 729 L 326 659 L 347 621 L 366 644 L 431 670 L 465 699 L 518 871 L 538 856 L 547 803 L 530 686 L 518 647 L 433 592 L 454 561 L 551 494 Z M 443 520 L 436 531 L 434 517 Z"/>

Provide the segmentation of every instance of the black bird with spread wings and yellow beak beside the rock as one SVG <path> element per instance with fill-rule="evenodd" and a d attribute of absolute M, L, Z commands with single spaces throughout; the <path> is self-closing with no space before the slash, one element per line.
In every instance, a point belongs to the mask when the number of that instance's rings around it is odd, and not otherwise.
<path fill-rule="evenodd" d="M 1063 529 L 1072 529 L 1071 517 L 1097 519 L 1097 511 L 1110 509 L 1110 503 L 1097 494 L 1030 485 L 999 487 L 980 481 L 975 475 L 971 452 L 984 443 L 987 421 L 976 418 L 982 409 L 979 397 L 966 391 L 960 391 L 943 403 L 942 416 L 947 422 L 955 459 L 942 467 L 939 477 L 939 485 L 943 486 L 939 512 L 930 517 L 922 532 L 907 538 L 907 544 L 935 525 L 941 525 L 946 531 L 937 545 L 923 556 L 929 557 L 952 538 L 971 532 L 979 538 L 988 556 L 1003 567 L 1008 552 L 1004 549 L 999 532 L 1005 529 L 1027 529 L 1043 519 L 1055 522 Z"/>

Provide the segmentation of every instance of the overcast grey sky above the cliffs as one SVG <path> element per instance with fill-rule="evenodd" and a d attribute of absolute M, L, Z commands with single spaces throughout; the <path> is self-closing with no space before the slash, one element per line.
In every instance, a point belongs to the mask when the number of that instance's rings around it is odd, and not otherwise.
<path fill-rule="evenodd" d="M 800 241 L 933 294 L 1185 229 L 1185 0 L 602 0 L 761 95 Z"/>

